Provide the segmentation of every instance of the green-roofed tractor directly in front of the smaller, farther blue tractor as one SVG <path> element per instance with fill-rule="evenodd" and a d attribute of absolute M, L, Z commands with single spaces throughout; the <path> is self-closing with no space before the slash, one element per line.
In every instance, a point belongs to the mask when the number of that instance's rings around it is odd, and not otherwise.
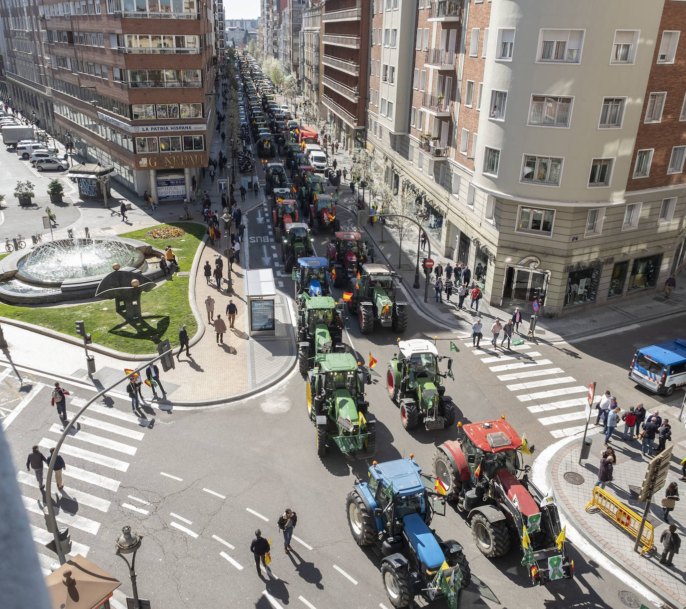
<path fill-rule="evenodd" d="M 298 296 L 298 367 L 305 376 L 320 353 L 345 353 L 343 318 L 330 296 Z"/>

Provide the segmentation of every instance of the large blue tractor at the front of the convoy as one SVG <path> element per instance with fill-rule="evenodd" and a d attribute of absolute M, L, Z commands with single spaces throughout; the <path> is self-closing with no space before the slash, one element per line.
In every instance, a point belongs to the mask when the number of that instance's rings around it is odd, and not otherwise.
<path fill-rule="evenodd" d="M 358 545 L 380 552 L 383 586 L 394 607 L 411 606 L 416 595 L 427 601 L 443 596 L 456 606 L 471 581 L 469 562 L 456 540 L 439 540 L 429 529 L 436 499 L 445 516 L 445 495 L 427 488 L 421 471 L 413 455 L 373 462 L 368 482 L 357 481 L 348 493 L 348 525 Z M 435 488 L 442 490 L 438 481 Z"/>

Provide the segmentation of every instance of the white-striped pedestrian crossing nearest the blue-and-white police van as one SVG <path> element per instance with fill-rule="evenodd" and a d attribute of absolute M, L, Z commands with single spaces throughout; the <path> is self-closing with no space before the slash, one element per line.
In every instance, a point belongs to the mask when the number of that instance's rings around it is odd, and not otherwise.
<path fill-rule="evenodd" d="M 486 340 L 482 340 L 484 343 Z M 471 340 L 464 345 L 472 347 L 471 353 L 483 364 L 494 364 L 488 366 L 488 370 L 495 373 L 497 380 L 504 382 L 529 412 L 541 414 L 539 423 L 554 438 L 573 436 L 584 430 L 588 386 L 554 366 L 551 360 L 543 358 L 532 345 L 512 345 L 508 351 L 496 350 L 492 343 L 474 349 Z M 594 401 L 600 401 L 600 396 Z M 578 424 L 580 421 L 582 425 Z"/>

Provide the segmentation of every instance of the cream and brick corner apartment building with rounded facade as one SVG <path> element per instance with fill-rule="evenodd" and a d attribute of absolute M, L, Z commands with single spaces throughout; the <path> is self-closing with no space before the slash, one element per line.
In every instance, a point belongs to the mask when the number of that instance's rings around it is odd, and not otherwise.
<path fill-rule="evenodd" d="M 686 4 L 593 7 L 371 3 L 368 147 L 498 306 L 566 314 L 684 263 Z"/>

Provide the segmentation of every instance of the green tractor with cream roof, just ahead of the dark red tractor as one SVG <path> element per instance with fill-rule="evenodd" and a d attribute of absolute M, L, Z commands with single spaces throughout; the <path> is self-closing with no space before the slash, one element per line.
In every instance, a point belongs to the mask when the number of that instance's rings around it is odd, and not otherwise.
<path fill-rule="evenodd" d="M 357 313 L 360 332 L 370 334 L 375 321 L 395 332 L 405 332 L 407 303 L 397 301 L 395 284 L 396 279 L 402 283 L 403 277 L 375 263 L 363 264 L 362 273 L 358 274 L 359 277 L 351 279 L 347 291 L 352 294 L 348 310 Z"/>

